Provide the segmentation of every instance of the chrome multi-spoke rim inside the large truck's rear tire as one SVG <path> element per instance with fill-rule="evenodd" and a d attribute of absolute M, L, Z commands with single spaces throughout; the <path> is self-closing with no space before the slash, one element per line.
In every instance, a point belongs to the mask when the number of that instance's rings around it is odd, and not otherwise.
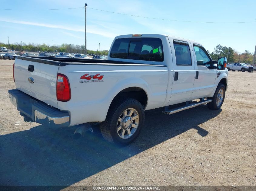
<path fill-rule="evenodd" d="M 119 117 L 116 131 L 120 138 L 130 138 L 138 128 L 140 117 L 134 108 L 126 109 Z"/>

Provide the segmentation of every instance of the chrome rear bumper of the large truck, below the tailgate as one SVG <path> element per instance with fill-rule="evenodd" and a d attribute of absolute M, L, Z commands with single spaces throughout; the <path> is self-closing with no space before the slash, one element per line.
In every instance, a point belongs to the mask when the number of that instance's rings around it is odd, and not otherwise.
<path fill-rule="evenodd" d="M 37 100 L 17 89 L 9 90 L 11 103 L 17 107 L 24 121 L 36 122 L 51 128 L 69 126 L 69 112 L 61 111 L 55 107 Z"/>

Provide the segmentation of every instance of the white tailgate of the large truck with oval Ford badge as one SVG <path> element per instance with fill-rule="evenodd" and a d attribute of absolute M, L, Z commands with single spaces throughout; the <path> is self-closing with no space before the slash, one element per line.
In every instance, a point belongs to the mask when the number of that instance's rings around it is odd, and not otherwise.
<path fill-rule="evenodd" d="M 28 68 L 30 68 L 30 71 Z M 15 59 L 14 78 L 16 88 L 56 108 L 58 108 L 56 97 L 57 74 L 58 65 Z"/>

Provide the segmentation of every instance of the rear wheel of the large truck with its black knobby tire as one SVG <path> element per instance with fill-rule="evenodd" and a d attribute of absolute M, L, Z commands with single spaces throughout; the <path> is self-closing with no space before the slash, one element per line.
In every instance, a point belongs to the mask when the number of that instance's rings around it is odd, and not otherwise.
<path fill-rule="evenodd" d="M 101 123 L 101 134 L 108 142 L 128 145 L 135 141 L 144 124 L 144 107 L 135 99 L 119 97 L 108 110 Z"/>

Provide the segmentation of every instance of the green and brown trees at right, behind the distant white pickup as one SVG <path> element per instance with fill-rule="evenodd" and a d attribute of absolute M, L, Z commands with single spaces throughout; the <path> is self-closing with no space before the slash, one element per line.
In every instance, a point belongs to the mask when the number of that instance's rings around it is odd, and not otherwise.
<path fill-rule="evenodd" d="M 222 46 L 220 44 L 218 44 L 214 48 L 214 51 L 212 53 L 210 53 L 209 51 L 208 53 L 213 60 L 218 60 L 219 56 L 225 56 L 227 58 L 227 63 L 242 62 L 252 64 L 254 56 L 248 50 L 245 50 L 244 53 L 238 53 L 231 47 Z"/>

